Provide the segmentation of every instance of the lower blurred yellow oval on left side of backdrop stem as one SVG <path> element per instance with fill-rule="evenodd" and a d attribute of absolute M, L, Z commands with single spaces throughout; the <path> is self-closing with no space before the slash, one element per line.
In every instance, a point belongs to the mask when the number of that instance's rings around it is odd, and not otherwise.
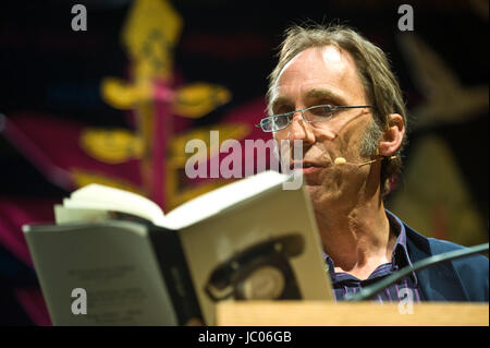
<path fill-rule="evenodd" d="M 85 129 L 79 145 L 90 157 L 111 165 L 140 158 L 143 154 L 142 140 L 124 129 Z"/>

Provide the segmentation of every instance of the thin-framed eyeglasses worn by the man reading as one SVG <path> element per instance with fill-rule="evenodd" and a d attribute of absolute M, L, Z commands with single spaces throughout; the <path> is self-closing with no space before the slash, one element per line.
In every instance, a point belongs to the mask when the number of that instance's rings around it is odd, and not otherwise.
<path fill-rule="evenodd" d="M 356 108 L 372 108 L 369 105 L 363 106 L 331 106 L 331 105 L 316 105 L 303 110 L 295 110 L 285 113 L 278 113 L 266 117 L 260 120 L 260 123 L 255 124 L 257 128 L 261 128 L 264 132 L 277 132 L 283 130 L 290 125 L 293 117 L 296 112 L 302 112 L 303 120 L 308 123 L 327 121 L 332 118 L 333 113 L 343 109 L 356 109 Z"/>

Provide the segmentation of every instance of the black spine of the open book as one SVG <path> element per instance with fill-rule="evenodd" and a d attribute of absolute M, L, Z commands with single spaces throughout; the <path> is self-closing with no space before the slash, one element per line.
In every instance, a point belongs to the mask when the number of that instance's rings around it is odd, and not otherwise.
<path fill-rule="evenodd" d="M 184 325 L 191 319 L 203 320 L 179 232 L 154 226 L 149 236 L 179 324 Z"/>

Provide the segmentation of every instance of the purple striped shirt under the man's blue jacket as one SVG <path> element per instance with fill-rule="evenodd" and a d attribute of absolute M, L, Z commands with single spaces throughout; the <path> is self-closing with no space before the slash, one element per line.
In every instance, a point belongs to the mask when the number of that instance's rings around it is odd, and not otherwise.
<path fill-rule="evenodd" d="M 333 260 L 330 259 L 329 255 L 323 253 L 326 264 L 328 265 L 328 272 L 332 281 L 332 291 L 335 300 L 342 301 L 346 293 L 356 293 L 362 288 L 388 277 L 393 272 L 396 272 L 407 265 L 412 265 L 408 250 L 406 248 L 405 226 L 393 213 L 389 211 L 385 212 L 388 220 L 390 221 L 391 229 L 397 233 L 396 244 L 394 245 L 392 252 L 392 261 L 390 263 L 379 265 L 367 279 L 360 280 L 348 273 L 334 272 L 335 268 Z M 401 292 L 402 289 L 409 290 L 404 290 Z M 406 292 L 412 293 L 414 303 L 422 301 L 418 289 L 418 279 L 415 273 L 412 273 L 409 276 L 401 279 L 399 283 L 379 292 L 373 300 L 381 303 L 393 301 L 397 302 L 401 299 L 407 298 Z"/>

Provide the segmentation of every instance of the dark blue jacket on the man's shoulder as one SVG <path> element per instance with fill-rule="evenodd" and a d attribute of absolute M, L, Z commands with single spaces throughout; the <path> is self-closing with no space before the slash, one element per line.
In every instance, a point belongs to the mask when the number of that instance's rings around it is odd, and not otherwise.
<path fill-rule="evenodd" d="M 404 225 L 412 263 L 464 248 L 426 238 Z M 417 272 L 419 290 L 426 301 L 488 302 L 488 259 L 479 254 L 430 266 Z"/>

